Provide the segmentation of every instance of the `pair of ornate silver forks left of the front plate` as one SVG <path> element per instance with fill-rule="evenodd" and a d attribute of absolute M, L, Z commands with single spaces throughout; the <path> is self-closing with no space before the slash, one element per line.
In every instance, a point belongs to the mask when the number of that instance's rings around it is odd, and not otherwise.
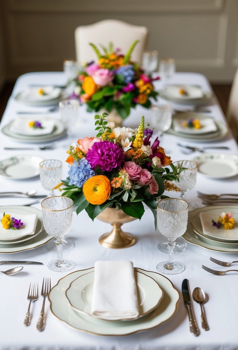
<path fill-rule="evenodd" d="M 42 290 L 41 290 L 41 295 L 43 296 L 43 304 L 42 304 L 42 309 L 40 311 L 40 316 L 36 325 L 36 328 L 38 331 L 43 331 L 45 329 L 45 299 L 50 293 L 51 290 L 51 280 L 50 278 L 43 278 L 43 283 L 42 283 Z M 30 306 L 31 302 L 35 302 L 38 300 L 38 283 L 30 283 L 30 288 L 28 291 L 28 296 L 27 299 L 29 300 L 29 306 L 27 310 L 27 314 L 25 315 L 24 319 L 24 325 L 29 326 L 31 323 L 31 313 L 30 313 Z"/>

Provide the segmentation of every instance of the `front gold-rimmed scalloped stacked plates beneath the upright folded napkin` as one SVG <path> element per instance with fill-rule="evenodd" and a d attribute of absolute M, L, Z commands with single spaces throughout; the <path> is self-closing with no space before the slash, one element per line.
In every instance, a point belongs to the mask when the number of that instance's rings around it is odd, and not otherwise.
<path fill-rule="evenodd" d="M 91 314 L 94 267 L 75 271 L 51 289 L 51 311 L 60 321 L 76 330 L 97 335 L 122 336 L 149 330 L 176 314 L 179 294 L 170 280 L 156 272 L 134 268 L 139 316 L 130 320 L 108 321 Z"/>

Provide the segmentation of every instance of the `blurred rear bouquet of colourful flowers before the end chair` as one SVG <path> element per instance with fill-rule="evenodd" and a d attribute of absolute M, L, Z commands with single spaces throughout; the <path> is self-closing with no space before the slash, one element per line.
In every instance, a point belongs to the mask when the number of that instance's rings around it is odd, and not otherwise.
<path fill-rule="evenodd" d="M 71 97 L 86 103 L 89 112 L 101 109 L 111 112 L 115 108 L 123 119 L 137 104 L 149 108 L 149 97 L 156 100 L 158 95 L 152 82 L 159 78 L 145 75 L 142 68 L 131 61 L 131 53 L 137 42 L 134 41 L 126 55 L 121 54 L 120 49 L 113 50 L 112 44 L 109 49 L 103 47 L 102 54 L 90 43 L 98 62 L 85 63 L 84 71 L 79 72 L 75 79 L 77 86 Z"/>

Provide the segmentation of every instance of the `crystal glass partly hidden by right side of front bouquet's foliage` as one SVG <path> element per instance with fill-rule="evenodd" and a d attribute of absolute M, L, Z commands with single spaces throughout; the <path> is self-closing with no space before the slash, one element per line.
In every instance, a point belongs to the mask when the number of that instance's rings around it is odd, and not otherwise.
<path fill-rule="evenodd" d="M 179 182 L 176 182 L 176 186 L 180 189 L 181 198 L 186 196 L 186 193 L 192 190 L 196 184 L 196 177 L 198 166 L 192 160 L 180 160 L 174 162 L 173 165 L 177 168 L 187 168 L 183 170 L 179 175 Z M 197 205 L 194 203 L 188 203 L 188 211 L 194 210 Z"/>

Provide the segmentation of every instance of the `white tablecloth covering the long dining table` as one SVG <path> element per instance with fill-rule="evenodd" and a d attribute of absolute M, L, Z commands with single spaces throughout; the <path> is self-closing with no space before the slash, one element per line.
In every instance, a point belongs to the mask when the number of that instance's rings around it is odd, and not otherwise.
<path fill-rule="evenodd" d="M 30 72 L 20 76 L 16 81 L 6 110 L 3 113 L 0 123 L 1 128 L 15 119 L 19 111 L 44 113 L 46 116 L 60 119 L 60 113 L 57 109 L 49 112 L 49 107 L 27 106 L 20 104 L 14 99 L 17 93 L 23 91 L 31 84 L 39 84 L 39 86 L 65 85 L 66 77 L 64 72 Z M 155 89 L 159 91 L 163 84 L 162 79 L 157 80 Z M 170 78 L 169 84 L 194 84 L 200 86 L 203 90 L 213 92 L 208 79 L 200 73 L 176 72 Z M 158 102 L 164 103 L 160 97 Z M 187 108 L 187 106 L 173 103 L 172 106 L 174 109 Z M 209 112 L 204 113 L 204 115 L 211 116 L 214 120 L 227 124 L 221 106 L 215 96 L 207 106 L 207 109 L 209 109 Z M 83 137 L 95 135 L 94 114 L 96 113 L 87 112 L 84 105 L 80 107 L 79 120 L 74 128 L 74 142 Z M 150 123 L 151 110 L 137 106 L 131 110 L 129 117 L 123 121 L 123 126 L 138 127 L 142 114 L 145 116 L 145 123 Z M 63 178 L 66 179 L 68 171 L 68 164 L 65 162 L 67 158 L 66 135 L 62 135 L 56 142 L 54 149 L 23 151 L 17 148 L 37 147 L 40 144 L 19 143 L 1 133 L 0 160 L 20 154 L 34 155 L 42 159 L 58 159 L 63 163 Z M 206 152 L 222 153 L 224 157 L 226 154 L 238 155 L 237 142 L 229 127 L 228 133 L 224 138 L 213 142 L 191 142 L 189 140 L 181 140 L 172 134 L 165 133 L 163 135 L 161 146 L 164 147 L 166 154 L 169 154 L 173 161 L 192 160 L 200 153 L 196 151 L 185 155 L 183 148 L 177 145 L 178 143 L 199 147 L 211 145 L 226 146 L 228 149 L 210 149 Z M 4 148 L 6 147 L 16 147 L 16 150 L 5 150 Z M 186 194 L 185 200 L 195 203 L 198 207 L 203 207 L 204 205 L 198 197 L 197 191 L 207 194 L 237 193 L 237 185 L 238 175 L 225 179 L 213 179 L 198 172 L 196 185 Z M 27 192 L 31 189 L 36 189 L 37 195 L 49 196 L 49 193 L 43 189 L 39 176 L 26 180 L 11 180 L 6 177 L 1 177 L 0 179 L 0 192 Z M 55 195 L 60 195 L 58 190 L 54 192 Z M 164 194 L 174 198 L 180 197 L 179 192 L 165 192 Z M 34 200 L 30 198 L 0 198 L 0 205 L 24 205 L 31 202 L 34 202 Z M 32 204 L 32 207 L 41 209 L 40 200 Z M 204 249 L 189 242 L 187 242 L 185 251 L 174 254 L 174 259 L 182 262 L 185 265 L 185 270 L 179 274 L 165 275 L 179 293 L 178 310 L 173 317 L 158 327 L 125 336 L 98 336 L 68 327 L 66 323 L 61 322 L 52 314 L 50 302 L 46 300 L 46 326 L 44 331 L 39 332 L 36 324 L 43 302 L 43 297 L 41 296 L 39 296 L 38 301 L 32 303 L 31 325 L 25 327 L 23 321 L 28 308 L 27 294 L 30 282 L 38 282 L 40 292 L 43 278 L 50 277 L 51 286 L 53 287 L 59 279 L 68 273 L 91 268 L 98 260 L 130 260 L 133 262 L 134 267 L 157 272 L 156 265 L 158 262 L 168 258 L 168 254 L 162 253 L 157 248 L 158 243 L 166 241 L 166 238 L 159 233 L 158 228 L 155 230 L 154 217 L 150 210 L 145 209 L 140 221 L 137 219 L 123 225 L 124 231 L 130 232 L 136 237 L 136 243 L 131 247 L 110 249 L 99 244 L 99 237 L 109 230 L 109 224 L 97 219 L 92 222 L 85 211 L 80 212 L 79 215 L 76 215 L 76 212 L 73 213 L 72 229 L 66 238 L 72 239 L 75 246 L 71 250 L 63 252 L 64 258 L 70 259 L 75 263 L 74 269 L 69 272 L 53 272 L 47 267 L 47 263 L 56 258 L 56 253 L 48 251 L 45 245 L 12 254 L 0 254 L 0 260 L 34 260 L 43 262 L 43 265 L 24 265 L 23 270 L 13 276 L 3 274 L 0 276 L 0 350 L 235 350 L 238 348 L 236 323 L 238 314 L 238 303 L 236 302 L 238 290 L 237 273 L 233 272 L 224 276 L 216 276 L 202 269 L 202 265 L 218 270 L 221 269 L 221 266 L 215 265 L 209 260 L 210 257 L 223 261 L 232 261 L 238 260 L 238 254 Z M 180 243 L 186 242 L 183 237 L 179 237 L 177 241 Z M 7 268 L 9 268 L 7 265 L 1 266 L 1 270 Z M 234 268 L 237 267 L 234 265 Z M 184 279 L 189 281 L 191 299 L 192 291 L 195 287 L 201 287 L 207 296 L 204 309 L 210 328 L 209 331 L 204 331 L 201 328 L 200 306 L 191 300 L 200 329 L 200 335 L 197 337 L 189 332 L 187 310 L 181 294 L 181 285 Z"/>

